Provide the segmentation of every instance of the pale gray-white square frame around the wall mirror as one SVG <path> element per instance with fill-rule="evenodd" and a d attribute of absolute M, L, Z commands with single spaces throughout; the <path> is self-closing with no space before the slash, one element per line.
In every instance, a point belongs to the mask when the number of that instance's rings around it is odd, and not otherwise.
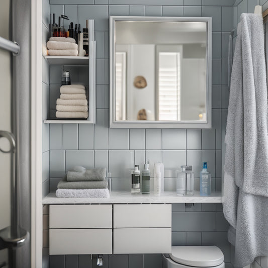
<path fill-rule="evenodd" d="M 205 22 L 207 23 L 207 72 L 206 72 L 206 121 L 146 121 L 115 120 L 115 22 L 116 21 L 158 21 L 158 22 Z M 110 16 L 110 128 L 192 128 L 210 129 L 212 122 L 212 19 L 205 17 L 133 17 Z"/>

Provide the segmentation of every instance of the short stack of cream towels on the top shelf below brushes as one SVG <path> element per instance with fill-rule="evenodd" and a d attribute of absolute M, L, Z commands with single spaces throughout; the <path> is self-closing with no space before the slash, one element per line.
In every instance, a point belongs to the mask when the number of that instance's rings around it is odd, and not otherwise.
<path fill-rule="evenodd" d="M 70 37 L 50 37 L 47 41 L 50 56 L 77 56 L 78 45 Z"/>

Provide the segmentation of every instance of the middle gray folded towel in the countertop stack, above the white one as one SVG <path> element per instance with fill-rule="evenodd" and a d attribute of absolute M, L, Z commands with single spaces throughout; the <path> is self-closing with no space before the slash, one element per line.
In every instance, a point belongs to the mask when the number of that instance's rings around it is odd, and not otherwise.
<path fill-rule="evenodd" d="M 108 181 L 102 182 L 68 182 L 63 178 L 58 183 L 58 189 L 108 189 Z"/>

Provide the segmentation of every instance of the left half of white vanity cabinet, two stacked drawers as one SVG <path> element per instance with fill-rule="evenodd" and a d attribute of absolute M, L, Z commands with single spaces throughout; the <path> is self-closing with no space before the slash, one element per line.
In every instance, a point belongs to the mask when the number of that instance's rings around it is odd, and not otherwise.
<path fill-rule="evenodd" d="M 112 205 L 50 205 L 49 254 L 112 254 Z"/>

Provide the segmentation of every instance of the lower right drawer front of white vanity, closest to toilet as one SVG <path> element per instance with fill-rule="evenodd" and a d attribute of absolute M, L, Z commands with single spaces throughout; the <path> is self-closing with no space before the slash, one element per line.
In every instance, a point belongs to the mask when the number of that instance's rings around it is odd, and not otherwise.
<path fill-rule="evenodd" d="M 171 253 L 171 228 L 114 229 L 114 253 Z"/>

